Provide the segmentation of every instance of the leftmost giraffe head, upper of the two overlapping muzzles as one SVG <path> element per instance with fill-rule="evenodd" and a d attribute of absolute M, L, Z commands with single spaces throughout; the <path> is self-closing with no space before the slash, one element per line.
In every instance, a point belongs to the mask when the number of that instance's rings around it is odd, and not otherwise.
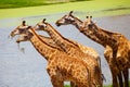
<path fill-rule="evenodd" d="M 10 36 L 14 37 L 15 35 L 25 34 L 26 28 L 28 28 L 26 21 L 23 21 L 22 25 L 17 26 L 14 30 L 11 32 Z"/>

